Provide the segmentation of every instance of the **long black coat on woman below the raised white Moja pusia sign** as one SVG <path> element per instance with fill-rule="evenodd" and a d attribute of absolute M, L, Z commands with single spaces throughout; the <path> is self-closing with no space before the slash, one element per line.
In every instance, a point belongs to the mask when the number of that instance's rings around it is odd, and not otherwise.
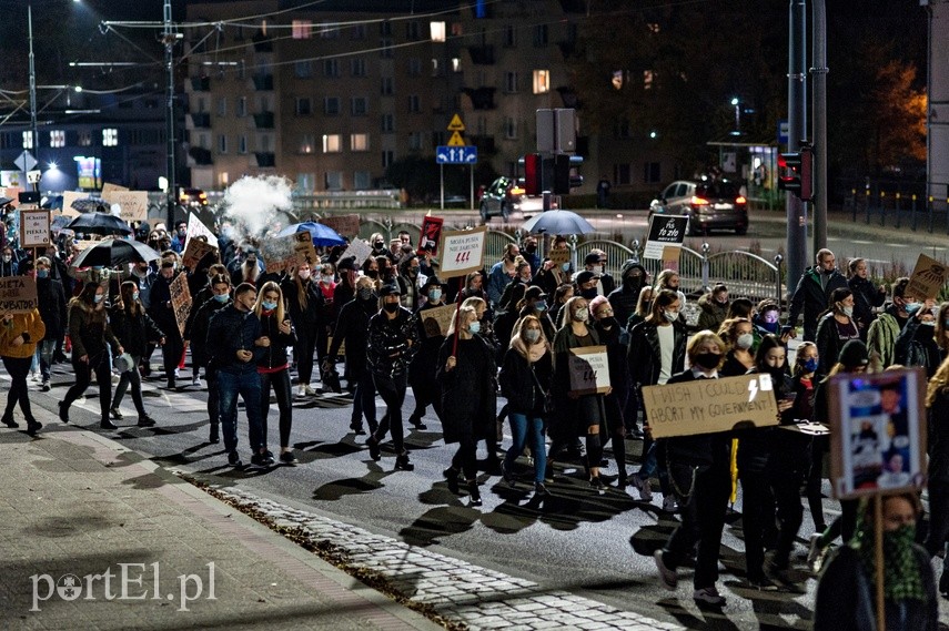
<path fill-rule="evenodd" d="M 438 350 L 435 378 L 442 389 L 442 430 L 445 442 L 465 438 L 479 440 L 494 437 L 497 420 L 497 395 L 493 349 L 477 335 L 458 339 L 454 369 L 445 370 L 454 350 L 454 339 L 446 338 Z"/>

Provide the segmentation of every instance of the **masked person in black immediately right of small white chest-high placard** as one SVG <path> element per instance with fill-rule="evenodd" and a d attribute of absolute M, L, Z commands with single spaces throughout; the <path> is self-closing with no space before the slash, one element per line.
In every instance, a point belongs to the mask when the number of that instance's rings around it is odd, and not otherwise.
<path fill-rule="evenodd" d="M 606 409 L 606 427 L 613 445 L 613 457 L 616 459 L 616 486 L 625 488 L 628 484 L 626 472 L 626 424 L 623 419 L 623 404 L 626 403 L 629 368 L 626 364 L 626 347 L 628 334 L 619 326 L 613 312 L 613 305 L 605 296 L 597 296 L 589 303 L 589 312 L 595 320 L 599 342 L 606 346 L 609 363 L 609 383 L 613 391 L 603 399 Z"/>

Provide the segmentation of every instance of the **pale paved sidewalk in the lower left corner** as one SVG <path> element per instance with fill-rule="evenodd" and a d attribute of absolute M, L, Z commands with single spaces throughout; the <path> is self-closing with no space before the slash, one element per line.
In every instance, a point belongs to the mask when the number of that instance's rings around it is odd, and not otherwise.
<path fill-rule="evenodd" d="M 0 445 L 0 629 L 442 629 L 108 438 Z"/>

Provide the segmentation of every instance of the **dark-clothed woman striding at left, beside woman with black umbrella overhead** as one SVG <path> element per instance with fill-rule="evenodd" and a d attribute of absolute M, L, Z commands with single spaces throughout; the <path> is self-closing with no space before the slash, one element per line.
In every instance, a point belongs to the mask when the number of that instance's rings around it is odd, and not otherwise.
<path fill-rule="evenodd" d="M 99 425 L 102 429 L 118 429 L 109 420 L 112 408 L 112 374 L 109 370 L 109 347 L 121 355 L 124 348 L 112 333 L 105 312 L 105 287 L 87 283 L 82 292 L 69 302 L 69 338 L 72 340 L 72 372 L 75 383 L 59 404 L 59 418 L 69 423 L 72 401 L 82 396 L 92 383 L 92 373 L 99 383 Z"/>

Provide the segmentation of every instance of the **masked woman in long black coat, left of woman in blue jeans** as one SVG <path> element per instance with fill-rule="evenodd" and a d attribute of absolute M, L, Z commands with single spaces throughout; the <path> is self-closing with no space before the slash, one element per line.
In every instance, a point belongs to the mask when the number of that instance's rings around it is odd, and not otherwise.
<path fill-rule="evenodd" d="M 444 475 L 448 488 L 457 493 L 458 472 L 464 474 L 472 506 L 482 503 L 477 488 L 477 441 L 496 434 L 497 405 L 494 349 L 476 335 L 478 329 L 475 311 L 461 307 L 452 318 L 438 352 L 436 373 L 442 389 L 445 444 L 458 444 L 452 466 L 445 469 Z"/>

